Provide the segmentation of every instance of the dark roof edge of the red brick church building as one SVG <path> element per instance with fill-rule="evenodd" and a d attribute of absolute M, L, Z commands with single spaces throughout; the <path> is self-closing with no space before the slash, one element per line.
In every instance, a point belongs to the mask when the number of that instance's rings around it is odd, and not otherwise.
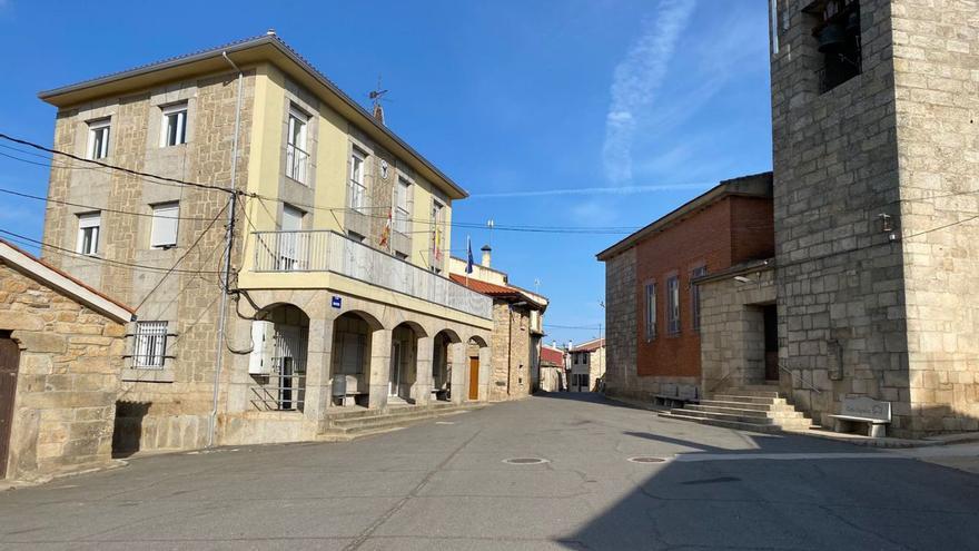
<path fill-rule="evenodd" d="M 645 239 L 646 237 L 663 232 L 668 227 L 673 226 L 674 224 L 696 213 L 698 210 L 702 210 L 708 206 L 720 201 L 721 199 L 732 196 L 770 199 L 772 197 L 772 173 L 760 173 L 750 176 L 732 178 L 730 180 L 723 180 L 708 191 L 684 203 L 673 211 L 656 219 L 652 224 L 645 226 L 639 232 L 635 232 L 634 234 L 622 239 L 615 245 L 612 245 L 605 250 L 602 250 L 595 256 L 599 258 L 599 260 L 605 262 L 613 256 L 629 250 L 630 248 L 632 248 L 633 245 Z"/>

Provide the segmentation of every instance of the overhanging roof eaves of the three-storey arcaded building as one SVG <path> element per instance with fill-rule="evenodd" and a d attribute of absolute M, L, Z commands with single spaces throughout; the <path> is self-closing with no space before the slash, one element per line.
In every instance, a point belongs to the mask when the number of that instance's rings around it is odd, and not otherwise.
<path fill-rule="evenodd" d="M 362 130 L 376 139 L 395 155 L 406 157 L 422 176 L 443 188 L 451 198 L 463 199 L 468 194 L 458 184 L 435 167 L 428 159 L 412 148 L 389 128 L 375 119 L 364 107 L 339 89 L 309 61 L 288 46 L 274 31 L 246 38 L 222 46 L 198 50 L 152 63 L 142 65 L 119 72 L 112 72 L 73 85 L 62 86 L 38 94 L 38 97 L 56 107 L 71 107 L 85 101 L 135 90 L 160 86 L 195 75 L 227 71 L 230 66 L 222 55 L 243 68 L 263 61 L 270 61 L 283 69 L 298 83 L 314 92 L 319 92 L 326 104 L 342 116 L 354 121 Z"/>

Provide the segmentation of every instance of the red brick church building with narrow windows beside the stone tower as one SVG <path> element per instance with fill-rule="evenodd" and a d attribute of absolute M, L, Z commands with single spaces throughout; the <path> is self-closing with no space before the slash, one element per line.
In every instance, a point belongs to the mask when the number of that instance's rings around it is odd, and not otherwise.
<path fill-rule="evenodd" d="M 722 181 L 597 255 L 605 263 L 610 395 L 703 394 L 699 287 L 773 255 L 772 175 Z M 774 297 L 772 297 L 774 299 Z"/>

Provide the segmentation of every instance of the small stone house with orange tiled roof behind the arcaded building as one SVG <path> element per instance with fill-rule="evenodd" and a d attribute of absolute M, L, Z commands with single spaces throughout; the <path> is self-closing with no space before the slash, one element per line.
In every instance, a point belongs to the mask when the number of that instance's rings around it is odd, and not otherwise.
<path fill-rule="evenodd" d="M 488 382 L 491 402 L 530 396 L 540 385 L 541 346 L 544 336 L 544 311 L 548 301 L 537 293 L 510 284 L 506 273 L 491 266 L 492 250 L 484 246 L 479 264 L 449 259 L 449 277 L 493 299 L 493 331 L 490 335 Z M 469 348 L 472 370 L 476 368 L 478 348 Z"/>

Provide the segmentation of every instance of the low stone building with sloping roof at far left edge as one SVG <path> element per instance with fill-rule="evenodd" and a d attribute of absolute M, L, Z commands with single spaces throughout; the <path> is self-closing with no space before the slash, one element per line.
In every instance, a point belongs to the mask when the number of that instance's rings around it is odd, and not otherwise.
<path fill-rule="evenodd" d="M 109 465 L 132 311 L 0 240 L 0 480 Z"/>

